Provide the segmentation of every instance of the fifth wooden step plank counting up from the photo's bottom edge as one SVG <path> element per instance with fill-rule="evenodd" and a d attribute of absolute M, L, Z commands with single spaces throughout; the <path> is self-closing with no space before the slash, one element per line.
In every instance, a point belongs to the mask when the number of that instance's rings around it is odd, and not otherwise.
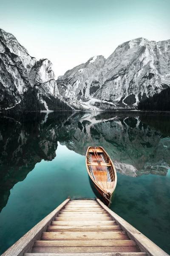
<path fill-rule="evenodd" d="M 96 232 L 96 231 L 122 231 L 118 225 L 113 226 L 49 226 L 47 232 L 62 232 L 62 231 L 72 231 L 72 232 Z"/>

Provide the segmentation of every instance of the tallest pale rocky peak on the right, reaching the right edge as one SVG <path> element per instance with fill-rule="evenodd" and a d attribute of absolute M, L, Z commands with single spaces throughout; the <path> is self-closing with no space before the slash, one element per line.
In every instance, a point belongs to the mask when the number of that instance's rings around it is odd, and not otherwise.
<path fill-rule="evenodd" d="M 102 69 L 101 88 L 94 97 L 137 105 L 170 84 L 170 40 L 144 38 L 126 42 L 113 52 Z"/>

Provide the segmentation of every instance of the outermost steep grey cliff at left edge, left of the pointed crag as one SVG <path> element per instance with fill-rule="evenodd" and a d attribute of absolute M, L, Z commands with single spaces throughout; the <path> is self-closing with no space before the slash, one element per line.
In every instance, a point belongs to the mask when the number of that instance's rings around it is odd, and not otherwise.
<path fill-rule="evenodd" d="M 20 104 L 30 86 L 28 70 L 35 64 L 13 35 L 0 29 L 0 106 L 10 109 Z M 27 70 L 28 69 L 28 70 Z"/>

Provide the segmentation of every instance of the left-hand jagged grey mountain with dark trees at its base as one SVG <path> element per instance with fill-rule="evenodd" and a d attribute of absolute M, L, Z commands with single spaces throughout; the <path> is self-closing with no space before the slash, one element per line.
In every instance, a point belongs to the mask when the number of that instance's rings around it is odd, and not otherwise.
<path fill-rule="evenodd" d="M 51 65 L 48 59 L 31 57 L 12 34 L 0 29 L 0 109 L 69 108 L 58 94 Z"/>

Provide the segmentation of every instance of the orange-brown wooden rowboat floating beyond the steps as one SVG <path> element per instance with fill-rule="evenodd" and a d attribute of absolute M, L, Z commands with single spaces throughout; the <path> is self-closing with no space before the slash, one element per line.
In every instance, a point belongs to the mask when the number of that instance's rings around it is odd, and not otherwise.
<path fill-rule="evenodd" d="M 102 147 L 88 147 L 85 163 L 94 186 L 109 206 L 117 183 L 111 158 Z"/>

